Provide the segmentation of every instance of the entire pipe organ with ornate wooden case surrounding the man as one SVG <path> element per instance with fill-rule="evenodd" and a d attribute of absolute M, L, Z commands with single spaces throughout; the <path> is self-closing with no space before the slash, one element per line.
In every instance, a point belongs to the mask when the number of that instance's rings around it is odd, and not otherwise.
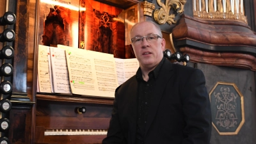
<path fill-rule="evenodd" d="M 211 143 L 256 141 L 256 0 L 0 3 L 0 124 L 4 125 L 0 143 L 101 143 L 108 132 L 114 98 L 40 91 L 38 45 L 135 58 L 129 30 L 143 20 L 159 24 L 170 62 L 182 65 L 183 61 L 204 72 L 213 113 Z M 214 98 L 217 90 L 219 96 L 237 92 L 232 99 L 236 106 L 226 109 L 232 118 L 221 117 L 225 109 Z"/>

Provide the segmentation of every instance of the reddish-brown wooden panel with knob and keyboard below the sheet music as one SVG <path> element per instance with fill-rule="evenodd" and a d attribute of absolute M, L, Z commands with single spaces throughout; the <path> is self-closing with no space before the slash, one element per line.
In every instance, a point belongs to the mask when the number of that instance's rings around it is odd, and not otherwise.
<path fill-rule="evenodd" d="M 35 144 L 95 144 L 106 138 L 113 99 L 40 94 L 36 98 Z M 77 113 L 81 107 L 85 113 Z"/>

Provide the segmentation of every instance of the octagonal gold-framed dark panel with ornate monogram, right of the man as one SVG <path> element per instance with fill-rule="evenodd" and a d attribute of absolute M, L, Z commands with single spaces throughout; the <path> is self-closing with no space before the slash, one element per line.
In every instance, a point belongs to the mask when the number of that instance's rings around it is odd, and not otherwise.
<path fill-rule="evenodd" d="M 221 135 L 237 134 L 244 124 L 244 102 L 236 84 L 218 82 L 209 95 L 212 125 Z"/>

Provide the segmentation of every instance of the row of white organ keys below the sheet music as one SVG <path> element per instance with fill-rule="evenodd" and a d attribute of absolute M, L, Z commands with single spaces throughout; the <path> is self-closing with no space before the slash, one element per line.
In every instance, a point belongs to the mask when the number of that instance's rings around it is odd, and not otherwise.
<path fill-rule="evenodd" d="M 47 129 L 45 136 L 61 136 L 61 135 L 106 135 L 108 130 L 95 129 Z"/>

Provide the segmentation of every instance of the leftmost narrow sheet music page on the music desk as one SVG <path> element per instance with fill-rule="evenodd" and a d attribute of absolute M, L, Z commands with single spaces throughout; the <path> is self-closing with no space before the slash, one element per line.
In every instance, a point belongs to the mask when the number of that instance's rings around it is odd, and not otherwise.
<path fill-rule="evenodd" d="M 49 73 L 49 47 L 38 45 L 38 84 L 39 92 L 51 93 L 52 82 Z"/>

